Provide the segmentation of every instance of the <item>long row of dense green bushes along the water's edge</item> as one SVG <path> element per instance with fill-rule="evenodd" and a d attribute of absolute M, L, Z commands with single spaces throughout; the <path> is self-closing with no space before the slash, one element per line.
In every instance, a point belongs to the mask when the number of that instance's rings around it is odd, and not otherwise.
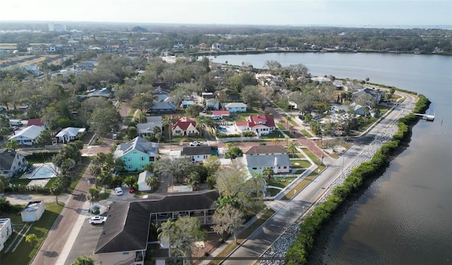
<path fill-rule="evenodd" d="M 424 113 L 428 109 L 429 104 L 429 99 L 421 94 L 413 112 Z M 300 224 L 299 234 L 294 244 L 287 250 L 286 264 L 307 264 L 307 258 L 314 245 L 316 233 L 331 218 L 339 205 L 352 192 L 357 191 L 361 187 L 366 178 L 374 176 L 388 166 L 389 156 L 396 151 L 401 141 L 408 140 L 409 125 L 417 120 L 419 120 L 419 117 L 412 113 L 404 118 L 400 118 L 398 132 L 393 135 L 393 140 L 383 144 L 370 161 L 366 161 L 353 168 L 350 175 L 345 178 L 343 185 L 335 187 L 333 194 L 326 199 L 326 202 L 316 207 L 311 215 L 304 218 L 304 222 Z"/>

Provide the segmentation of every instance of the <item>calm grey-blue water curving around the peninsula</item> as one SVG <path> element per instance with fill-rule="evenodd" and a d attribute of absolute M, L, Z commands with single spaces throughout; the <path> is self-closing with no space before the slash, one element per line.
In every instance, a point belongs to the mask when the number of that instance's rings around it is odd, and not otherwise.
<path fill-rule="evenodd" d="M 303 63 L 313 75 L 413 90 L 433 103 L 410 146 L 333 224 L 311 264 L 452 264 L 452 57 L 414 54 L 256 54 L 210 57 L 263 67 Z M 324 248 L 324 249 L 323 249 Z"/>

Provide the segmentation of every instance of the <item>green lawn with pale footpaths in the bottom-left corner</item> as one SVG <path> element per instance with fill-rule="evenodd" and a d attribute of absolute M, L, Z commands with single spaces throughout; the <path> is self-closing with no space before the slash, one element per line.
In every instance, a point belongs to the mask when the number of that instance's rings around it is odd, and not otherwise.
<path fill-rule="evenodd" d="M 63 209 L 64 203 L 60 202 L 57 204 L 56 202 L 47 203 L 45 206 L 44 214 L 42 214 L 39 221 L 31 223 L 31 228 L 28 230 L 28 235 L 35 234 L 37 240 L 32 242 L 32 244 L 25 242 L 25 238 L 18 245 L 16 251 L 11 252 L 12 249 L 16 246 L 17 242 L 14 242 L 13 247 L 9 249 L 8 253 L 4 253 L 4 250 L 8 249 L 9 245 L 13 242 L 13 239 L 16 238 L 16 235 L 20 232 L 20 230 L 25 226 L 25 223 L 22 222 L 22 218 L 20 215 L 11 214 L 2 214 L 2 216 L 6 218 L 11 218 L 14 225 L 15 232 L 11 235 L 11 238 L 6 242 L 5 247 L 1 253 L 1 258 L 4 261 L 8 261 L 8 264 L 29 264 L 32 257 L 35 256 L 37 249 L 39 249 L 40 245 L 44 241 L 44 238 L 49 233 L 50 228 L 52 228 L 55 220 L 59 216 L 61 209 Z M 27 225 L 28 226 L 28 225 Z M 22 231 L 25 233 L 25 230 Z"/>

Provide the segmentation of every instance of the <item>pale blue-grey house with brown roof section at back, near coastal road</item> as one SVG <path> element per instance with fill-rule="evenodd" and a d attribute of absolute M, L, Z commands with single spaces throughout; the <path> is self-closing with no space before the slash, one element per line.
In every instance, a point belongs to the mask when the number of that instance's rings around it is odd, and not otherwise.
<path fill-rule="evenodd" d="M 273 168 L 273 173 L 290 172 L 289 152 L 281 146 L 251 147 L 244 153 L 244 159 L 250 172 L 262 173 L 266 168 Z"/>

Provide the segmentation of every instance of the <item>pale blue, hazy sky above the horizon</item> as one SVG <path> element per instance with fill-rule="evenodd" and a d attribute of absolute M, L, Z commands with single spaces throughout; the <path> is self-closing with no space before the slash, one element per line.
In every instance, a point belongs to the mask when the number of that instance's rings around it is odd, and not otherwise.
<path fill-rule="evenodd" d="M 20 0 L 1 11 L 1 20 L 452 26 L 451 0 Z"/>

